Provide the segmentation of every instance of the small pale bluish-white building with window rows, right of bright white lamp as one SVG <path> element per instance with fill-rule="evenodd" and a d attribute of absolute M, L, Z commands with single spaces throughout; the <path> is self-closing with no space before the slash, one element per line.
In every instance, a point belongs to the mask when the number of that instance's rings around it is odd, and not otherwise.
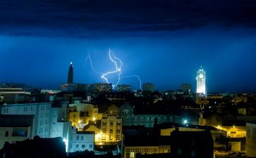
<path fill-rule="evenodd" d="M 93 151 L 95 149 L 94 132 L 75 132 L 68 143 L 68 152 Z"/>

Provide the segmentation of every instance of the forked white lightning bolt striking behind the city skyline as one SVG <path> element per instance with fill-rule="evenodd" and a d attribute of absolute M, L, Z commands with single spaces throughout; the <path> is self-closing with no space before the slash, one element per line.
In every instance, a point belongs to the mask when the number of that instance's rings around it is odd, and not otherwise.
<path fill-rule="evenodd" d="M 106 72 L 106 73 L 97 72 L 95 70 L 95 67 L 92 64 L 92 59 L 90 57 L 89 52 L 88 52 L 87 58 L 85 59 L 85 62 L 87 62 L 87 60 L 89 60 L 90 61 L 90 66 L 92 67 L 92 70 L 97 74 L 102 74 L 102 79 L 104 79 L 104 81 L 106 81 L 106 83 L 108 83 L 108 84 L 109 84 L 109 79 L 111 79 L 111 77 L 109 77 L 109 75 L 117 74 L 117 76 L 118 76 L 117 81 L 116 81 L 116 84 L 113 84 L 113 88 L 115 88 L 120 83 L 121 79 L 128 78 L 128 77 L 136 77 L 138 79 L 138 81 L 140 82 L 140 89 L 142 89 L 141 88 L 142 81 L 141 81 L 141 79 L 138 75 L 133 74 L 133 75 L 128 75 L 128 76 L 121 77 L 121 72 L 122 72 L 121 68 L 123 66 L 123 62 L 121 61 L 120 58 L 116 58 L 116 56 L 114 55 L 114 52 L 111 51 L 110 48 L 109 48 L 109 59 L 111 60 L 111 62 L 114 62 L 116 70 L 111 71 L 111 72 Z"/>

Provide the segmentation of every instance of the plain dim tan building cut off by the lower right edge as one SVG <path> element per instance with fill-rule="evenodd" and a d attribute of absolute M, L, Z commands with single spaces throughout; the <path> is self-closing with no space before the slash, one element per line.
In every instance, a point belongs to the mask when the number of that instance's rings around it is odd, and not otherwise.
<path fill-rule="evenodd" d="M 256 124 L 246 124 L 246 155 L 256 157 Z"/>

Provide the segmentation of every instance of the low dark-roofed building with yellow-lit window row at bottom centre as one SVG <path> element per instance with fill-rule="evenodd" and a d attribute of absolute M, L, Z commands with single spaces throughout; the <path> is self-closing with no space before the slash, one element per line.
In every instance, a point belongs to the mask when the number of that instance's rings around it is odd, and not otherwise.
<path fill-rule="evenodd" d="M 123 142 L 124 158 L 135 158 L 136 154 L 171 152 L 170 136 L 125 136 Z"/>

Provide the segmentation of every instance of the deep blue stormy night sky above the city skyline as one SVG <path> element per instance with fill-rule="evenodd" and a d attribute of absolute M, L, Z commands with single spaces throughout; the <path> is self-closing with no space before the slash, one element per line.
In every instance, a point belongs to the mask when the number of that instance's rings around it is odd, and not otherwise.
<path fill-rule="evenodd" d="M 112 71 L 109 48 L 158 90 L 195 91 L 202 65 L 208 92 L 255 92 L 256 1 L 0 0 L 0 82 L 59 88 L 71 61 L 75 83 L 103 82 L 85 58 Z"/>

